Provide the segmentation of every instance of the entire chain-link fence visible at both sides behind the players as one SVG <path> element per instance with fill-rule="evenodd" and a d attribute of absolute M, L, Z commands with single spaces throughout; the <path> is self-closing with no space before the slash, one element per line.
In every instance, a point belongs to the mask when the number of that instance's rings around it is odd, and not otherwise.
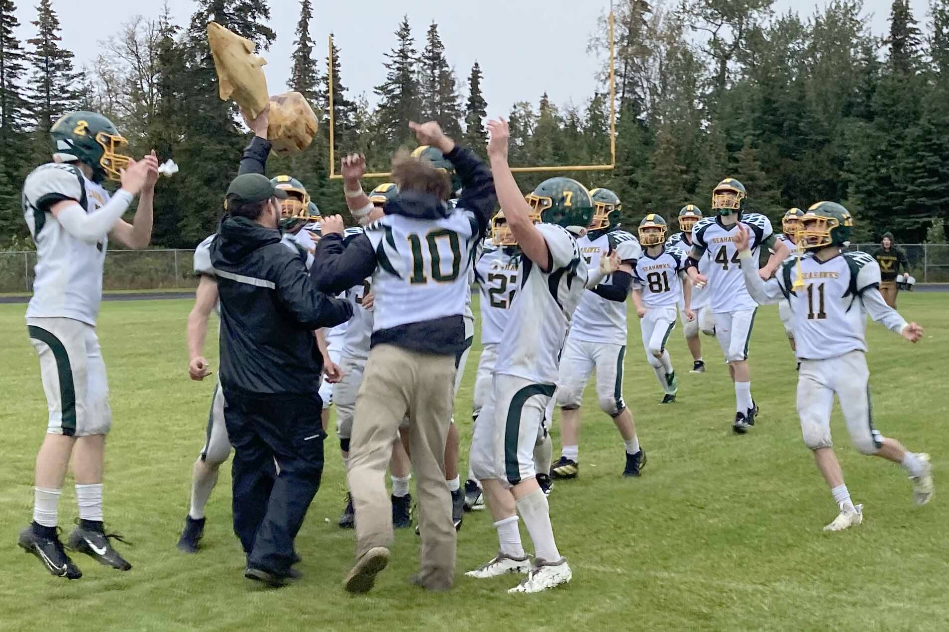
<path fill-rule="evenodd" d="M 900 244 L 917 283 L 949 282 L 949 244 Z M 878 244 L 852 244 L 850 250 L 873 253 Z M 108 251 L 105 289 L 195 288 L 195 251 Z M 0 252 L 0 292 L 29 292 L 36 252 Z"/>

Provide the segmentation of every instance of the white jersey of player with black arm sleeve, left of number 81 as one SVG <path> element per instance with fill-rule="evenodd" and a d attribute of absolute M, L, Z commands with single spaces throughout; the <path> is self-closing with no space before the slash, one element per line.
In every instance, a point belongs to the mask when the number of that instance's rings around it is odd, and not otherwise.
<path fill-rule="evenodd" d="M 577 246 L 587 270 L 599 266 L 600 257 L 610 251 L 617 251 L 623 262 L 639 259 L 642 252 L 639 240 L 625 231 L 606 232 L 593 240 L 585 235 L 577 239 Z M 612 276 L 607 276 L 601 283 L 611 281 Z M 570 337 L 590 343 L 626 344 L 626 304 L 584 292 L 573 315 Z"/>

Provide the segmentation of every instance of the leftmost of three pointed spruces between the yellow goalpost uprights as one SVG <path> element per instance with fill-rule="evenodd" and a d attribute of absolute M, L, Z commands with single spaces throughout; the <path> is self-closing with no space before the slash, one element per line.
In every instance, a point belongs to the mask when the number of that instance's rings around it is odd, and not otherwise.
<path fill-rule="evenodd" d="M 410 134 L 409 121 L 419 121 L 421 107 L 419 102 L 419 80 L 416 64 L 419 53 L 412 38 L 408 15 L 396 30 L 397 43 L 385 53 L 385 82 L 377 85 L 379 107 L 376 116 L 381 137 L 386 140 L 386 149 L 392 150 L 401 144 L 413 145 L 414 135 Z"/>

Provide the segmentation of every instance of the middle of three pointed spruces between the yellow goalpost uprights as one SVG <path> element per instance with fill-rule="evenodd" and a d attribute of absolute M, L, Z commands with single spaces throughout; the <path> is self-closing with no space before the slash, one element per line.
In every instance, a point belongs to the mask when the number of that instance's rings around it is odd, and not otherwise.
<path fill-rule="evenodd" d="M 437 121 L 448 136 L 461 138 L 455 72 L 445 59 L 445 46 L 435 22 L 428 28 L 419 59 L 419 96 L 422 119 Z"/>

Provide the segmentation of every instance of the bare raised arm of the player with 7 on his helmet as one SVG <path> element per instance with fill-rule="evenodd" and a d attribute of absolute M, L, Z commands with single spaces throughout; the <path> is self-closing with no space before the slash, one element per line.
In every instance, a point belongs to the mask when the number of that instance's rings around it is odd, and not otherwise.
<path fill-rule="evenodd" d="M 497 192 L 497 201 L 504 209 L 508 228 L 517 239 L 517 245 L 524 255 L 541 270 L 549 272 L 553 267 L 553 262 L 547 240 L 530 219 L 530 205 L 521 194 L 511 173 L 511 167 L 508 165 L 508 138 L 510 137 L 508 122 L 504 119 L 488 121 L 488 130 L 491 132 L 488 158 L 491 160 L 491 170 L 494 175 L 494 190 Z"/>

